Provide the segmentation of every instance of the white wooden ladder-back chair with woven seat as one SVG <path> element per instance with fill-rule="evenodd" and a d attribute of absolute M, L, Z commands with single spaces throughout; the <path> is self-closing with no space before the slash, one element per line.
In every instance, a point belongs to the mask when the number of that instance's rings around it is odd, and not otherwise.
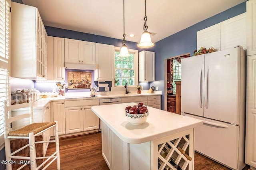
<path fill-rule="evenodd" d="M 22 103 L 22 104 L 16 104 L 16 105 L 7 105 L 7 102 L 4 101 L 4 144 L 5 144 L 5 155 L 6 160 L 10 161 L 11 159 L 22 159 L 22 160 L 28 160 L 27 163 L 30 164 L 31 170 L 38 170 L 42 168 L 43 170 L 46 169 L 54 160 L 57 161 L 57 170 L 60 170 L 60 151 L 59 151 L 59 137 L 58 137 L 58 122 L 47 122 L 47 123 L 34 123 L 33 121 L 33 103 L 30 101 L 30 103 Z M 29 113 L 17 115 L 15 117 L 11 117 L 11 112 L 14 109 L 20 109 L 20 108 L 29 108 Z M 30 124 L 26 125 L 25 127 L 18 128 L 16 130 L 10 131 L 10 123 L 14 121 L 18 121 L 20 119 L 24 118 L 30 118 Z M 38 136 L 42 134 L 42 132 L 49 130 L 50 128 L 55 129 L 55 140 L 49 140 L 49 141 L 39 141 L 35 142 L 35 136 Z M 22 148 L 19 148 L 18 150 L 11 152 L 10 148 L 10 140 L 11 139 L 28 139 L 29 144 L 23 146 Z M 46 143 L 46 142 L 55 142 L 56 145 L 56 152 L 54 152 L 51 156 L 44 156 L 44 157 L 36 157 L 36 148 L 35 144 L 37 143 Z M 24 148 L 29 146 L 29 156 L 14 156 L 17 152 L 20 150 L 23 150 Z M 46 159 L 42 164 L 39 166 L 36 165 L 36 160 L 38 159 Z M 50 162 L 48 162 L 50 161 Z M 11 162 L 11 161 L 10 161 Z M 24 161 L 26 162 L 26 161 Z M 48 163 L 47 163 L 48 162 Z M 47 163 L 47 164 L 46 164 Z M 46 165 L 44 165 L 46 164 Z M 24 164 L 18 168 L 18 170 L 22 169 L 27 164 Z M 12 170 L 11 164 L 6 164 L 7 170 Z"/>

